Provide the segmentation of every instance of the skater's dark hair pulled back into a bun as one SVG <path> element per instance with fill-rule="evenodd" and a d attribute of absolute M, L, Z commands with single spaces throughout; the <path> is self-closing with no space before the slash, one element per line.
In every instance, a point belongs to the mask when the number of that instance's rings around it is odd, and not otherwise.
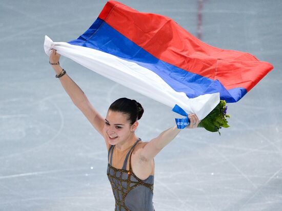
<path fill-rule="evenodd" d="M 144 109 L 140 103 L 128 98 L 117 99 L 110 105 L 109 110 L 128 114 L 127 120 L 130 122 L 130 125 L 133 125 L 135 121 L 140 120 L 144 113 Z"/>

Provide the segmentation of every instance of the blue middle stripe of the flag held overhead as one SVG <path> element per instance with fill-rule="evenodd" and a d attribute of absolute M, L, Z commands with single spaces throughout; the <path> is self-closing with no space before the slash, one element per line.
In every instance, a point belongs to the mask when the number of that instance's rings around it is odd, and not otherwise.
<path fill-rule="evenodd" d="M 219 92 L 221 100 L 231 103 L 238 101 L 247 93 L 245 88 L 226 90 L 218 80 L 190 73 L 154 57 L 100 18 L 97 18 L 83 35 L 68 43 L 103 51 L 146 67 L 175 91 L 185 92 L 188 98 Z"/>

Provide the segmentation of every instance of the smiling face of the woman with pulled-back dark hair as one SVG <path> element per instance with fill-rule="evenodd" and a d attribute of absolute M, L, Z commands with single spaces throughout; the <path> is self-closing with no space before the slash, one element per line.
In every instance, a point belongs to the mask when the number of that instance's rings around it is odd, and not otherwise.
<path fill-rule="evenodd" d="M 122 112 L 108 110 L 105 119 L 104 132 L 107 135 L 110 145 L 123 143 L 130 139 L 135 130 L 136 122 L 131 126 L 127 121 L 128 115 Z"/>

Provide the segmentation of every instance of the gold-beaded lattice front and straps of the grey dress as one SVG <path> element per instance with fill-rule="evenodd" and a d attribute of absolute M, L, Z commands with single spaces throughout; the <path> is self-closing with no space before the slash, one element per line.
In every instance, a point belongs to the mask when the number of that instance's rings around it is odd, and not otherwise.
<path fill-rule="evenodd" d="M 130 151 L 135 147 L 135 145 L 139 142 L 139 140 L 141 140 L 141 139 L 138 138 L 138 140 L 132 146 Z M 113 148 L 113 147 L 110 147 L 109 152 L 110 152 L 111 148 Z M 113 152 L 113 149 L 112 149 L 112 152 Z M 130 157 L 129 157 L 129 170 L 117 169 L 117 168 L 111 166 L 110 163 L 108 163 L 107 176 L 108 176 L 109 181 L 111 183 L 113 195 L 115 197 L 115 211 L 122 211 L 122 210 L 131 211 L 125 204 L 125 198 L 131 190 L 133 190 L 135 187 L 137 187 L 139 185 L 144 185 L 144 186 L 148 187 L 148 189 L 153 193 L 154 183 L 152 183 L 152 184 L 146 183 L 146 182 L 144 182 L 144 180 L 139 179 L 133 173 L 132 168 L 131 168 L 131 154 L 132 154 L 132 152 L 133 152 L 133 150 L 131 151 Z M 111 158 L 112 158 L 112 154 L 111 154 Z M 127 160 L 127 157 L 126 157 L 126 160 Z M 125 165 L 125 163 L 124 163 L 124 165 Z"/>

